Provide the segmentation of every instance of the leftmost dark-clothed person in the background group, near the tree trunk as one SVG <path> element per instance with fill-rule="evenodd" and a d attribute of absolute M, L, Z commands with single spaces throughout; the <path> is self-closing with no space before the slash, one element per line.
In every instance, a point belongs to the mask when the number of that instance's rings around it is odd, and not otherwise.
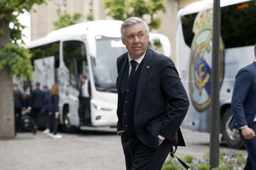
<path fill-rule="evenodd" d="M 14 115 L 15 115 L 15 132 L 21 131 L 21 113 L 24 107 L 22 93 L 18 85 L 14 84 Z"/>

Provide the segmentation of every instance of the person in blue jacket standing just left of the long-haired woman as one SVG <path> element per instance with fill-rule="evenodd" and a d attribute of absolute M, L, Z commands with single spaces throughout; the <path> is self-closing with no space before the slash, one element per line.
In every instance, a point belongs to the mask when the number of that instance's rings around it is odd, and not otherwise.
<path fill-rule="evenodd" d="M 48 89 L 48 86 L 43 86 L 43 94 L 44 94 L 44 105 L 43 105 L 43 118 L 46 118 L 46 130 L 44 130 L 44 133 L 50 132 L 50 90 Z"/>

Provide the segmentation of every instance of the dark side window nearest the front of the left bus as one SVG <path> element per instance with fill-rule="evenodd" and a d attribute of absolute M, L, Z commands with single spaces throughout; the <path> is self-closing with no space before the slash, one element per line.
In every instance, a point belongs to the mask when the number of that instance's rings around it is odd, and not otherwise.
<path fill-rule="evenodd" d="M 78 76 L 87 64 L 85 44 L 77 40 L 63 42 L 63 59 L 70 71 L 70 84 L 78 88 Z"/>

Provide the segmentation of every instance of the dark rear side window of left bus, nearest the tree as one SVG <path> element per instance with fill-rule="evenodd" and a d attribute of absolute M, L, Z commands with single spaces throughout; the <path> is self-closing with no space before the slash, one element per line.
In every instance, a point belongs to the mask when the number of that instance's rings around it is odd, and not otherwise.
<path fill-rule="evenodd" d="M 54 56 L 55 69 L 57 69 L 60 66 L 59 49 L 60 49 L 60 42 L 51 42 L 46 45 L 31 48 L 30 49 L 30 52 L 32 54 L 31 64 L 32 65 L 34 64 L 34 60 L 41 59 L 44 57 Z"/>

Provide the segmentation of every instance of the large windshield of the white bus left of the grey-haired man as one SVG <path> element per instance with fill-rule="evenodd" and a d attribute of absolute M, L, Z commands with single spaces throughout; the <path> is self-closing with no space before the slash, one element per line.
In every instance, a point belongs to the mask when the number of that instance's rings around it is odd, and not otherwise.
<path fill-rule="evenodd" d="M 92 72 L 98 91 L 116 93 L 117 57 L 127 52 L 121 38 L 96 36 L 96 56 L 92 57 Z"/>

